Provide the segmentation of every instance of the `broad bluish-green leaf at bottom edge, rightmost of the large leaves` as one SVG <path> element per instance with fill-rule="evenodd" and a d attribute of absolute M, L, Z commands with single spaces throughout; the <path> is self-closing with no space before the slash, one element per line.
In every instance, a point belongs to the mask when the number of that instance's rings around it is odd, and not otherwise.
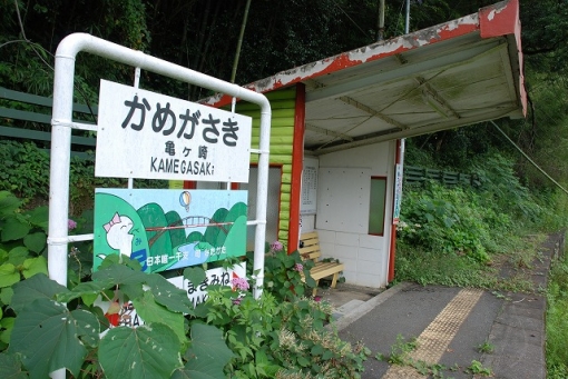
<path fill-rule="evenodd" d="M 219 329 L 194 323 L 192 326 L 192 347 L 186 353 L 187 363 L 176 370 L 172 379 L 224 379 L 223 368 L 233 358 L 233 352 Z"/>

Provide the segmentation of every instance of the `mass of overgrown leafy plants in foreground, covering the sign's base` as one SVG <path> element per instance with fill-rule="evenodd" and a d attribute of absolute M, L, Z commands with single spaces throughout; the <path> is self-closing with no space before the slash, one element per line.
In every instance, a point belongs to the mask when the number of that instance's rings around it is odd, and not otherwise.
<path fill-rule="evenodd" d="M 46 275 L 47 211 L 19 205 L 0 192 L 1 378 L 43 379 L 60 368 L 74 378 L 120 379 L 359 378 L 363 370 L 369 350 L 324 328 L 330 305 L 301 296 L 297 252 L 274 255 L 276 285 L 258 300 L 247 280 L 235 279 L 232 288 L 209 286 L 208 300 L 194 308 L 184 290 L 135 260 L 111 255 L 91 273 L 77 251 L 70 262 L 81 272 L 70 271 L 66 288 Z M 205 276 L 202 268 L 184 273 L 194 283 Z M 110 302 L 106 315 L 97 299 Z M 109 328 L 128 301 L 144 325 Z"/>

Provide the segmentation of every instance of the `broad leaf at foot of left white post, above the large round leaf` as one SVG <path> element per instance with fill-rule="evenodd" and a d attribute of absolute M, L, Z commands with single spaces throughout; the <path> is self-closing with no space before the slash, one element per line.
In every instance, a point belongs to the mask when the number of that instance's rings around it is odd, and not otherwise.
<path fill-rule="evenodd" d="M 55 299 L 56 293 L 65 293 L 69 290 L 58 282 L 50 280 L 43 273 L 38 273 L 30 279 L 20 281 L 13 286 L 13 296 L 10 307 L 20 313 L 27 305 L 36 299 Z"/>

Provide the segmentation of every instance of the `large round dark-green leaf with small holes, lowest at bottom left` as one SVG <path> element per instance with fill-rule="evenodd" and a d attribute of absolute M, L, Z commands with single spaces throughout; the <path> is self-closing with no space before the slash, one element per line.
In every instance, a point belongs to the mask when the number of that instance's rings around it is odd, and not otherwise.
<path fill-rule="evenodd" d="M 10 339 L 10 351 L 21 355 L 23 366 L 35 378 L 47 378 L 55 370 L 67 368 L 79 375 L 88 345 L 98 339 L 95 315 L 77 309 L 69 311 L 62 303 L 37 299 L 18 315 Z"/>

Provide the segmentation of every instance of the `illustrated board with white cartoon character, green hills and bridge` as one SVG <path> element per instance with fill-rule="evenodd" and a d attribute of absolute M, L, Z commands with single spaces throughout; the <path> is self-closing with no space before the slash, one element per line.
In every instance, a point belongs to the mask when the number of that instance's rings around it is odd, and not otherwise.
<path fill-rule="evenodd" d="M 94 270 L 108 255 L 158 272 L 246 252 L 247 191 L 97 189 Z"/>

